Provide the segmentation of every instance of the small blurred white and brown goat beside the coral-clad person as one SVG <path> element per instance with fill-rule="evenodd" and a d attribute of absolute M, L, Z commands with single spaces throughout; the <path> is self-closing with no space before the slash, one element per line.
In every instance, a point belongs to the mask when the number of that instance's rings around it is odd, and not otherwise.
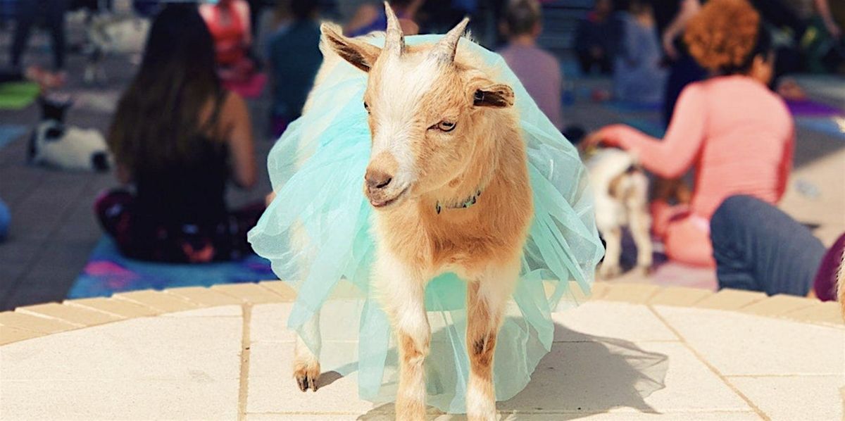
<path fill-rule="evenodd" d="M 619 275 L 622 227 L 630 227 L 637 248 L 637 268 L 651 267 L 651 216 L 648 214 L 648 179 L 629 153 L 602 149 L 586 160 L 593 198 L 596 227 L 607 244 L 598 275 L 604 279 Z"/>

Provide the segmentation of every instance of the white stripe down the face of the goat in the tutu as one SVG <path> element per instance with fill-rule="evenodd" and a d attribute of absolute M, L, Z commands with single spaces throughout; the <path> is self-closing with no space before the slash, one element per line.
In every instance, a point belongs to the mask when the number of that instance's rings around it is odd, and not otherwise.
<path fill-rule="evenodd" d="M 423 57 L 388 57 L 381 67 L 378 89 L 379 112 L 372 156 L 388 152 L 399 165 L 395 180 L 412 183 L 416 178 L 410 136 L 422 104 L 439 75 L 439 65 Z"/>

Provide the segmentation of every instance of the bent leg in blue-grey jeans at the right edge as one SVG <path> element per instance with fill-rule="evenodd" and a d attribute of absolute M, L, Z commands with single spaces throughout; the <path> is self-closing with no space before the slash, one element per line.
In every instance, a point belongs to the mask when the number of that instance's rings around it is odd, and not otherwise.
<path fill-rule="evenodd" d="M 807 227 L 751 196 L 731 196 L 710 221 L 719 288 L 835 301 L 845 234 L 830 249 Z"/>

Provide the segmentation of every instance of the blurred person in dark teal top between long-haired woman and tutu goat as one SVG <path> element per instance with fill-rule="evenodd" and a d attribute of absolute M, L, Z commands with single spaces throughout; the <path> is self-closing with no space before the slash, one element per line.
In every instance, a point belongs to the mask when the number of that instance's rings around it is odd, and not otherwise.
<path fill-rule="evenodd" d="M 323 63 L 317 4 L 312 0 L 292 0 L 291 13 L 292 23 L 270 39 L 267 52 L 273 86 L 274 137 L 280 136 L 287 124 L 302 113 L 314 76 Z"/>

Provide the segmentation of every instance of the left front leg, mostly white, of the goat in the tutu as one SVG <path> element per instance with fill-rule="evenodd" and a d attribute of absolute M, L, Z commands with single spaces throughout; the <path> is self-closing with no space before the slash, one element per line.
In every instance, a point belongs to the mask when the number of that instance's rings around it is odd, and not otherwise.
<path fill-rule="evenodd" d="M 396 334 L 399 348 L 399 390 L 396 391 L 396 419 L 425 419 L 425 370 L 423 362 L 431 342 L 431 327 L 425 310 L 425 280 L 394 257 L 383 254 L 376 260 L 376 287 Z"/>

